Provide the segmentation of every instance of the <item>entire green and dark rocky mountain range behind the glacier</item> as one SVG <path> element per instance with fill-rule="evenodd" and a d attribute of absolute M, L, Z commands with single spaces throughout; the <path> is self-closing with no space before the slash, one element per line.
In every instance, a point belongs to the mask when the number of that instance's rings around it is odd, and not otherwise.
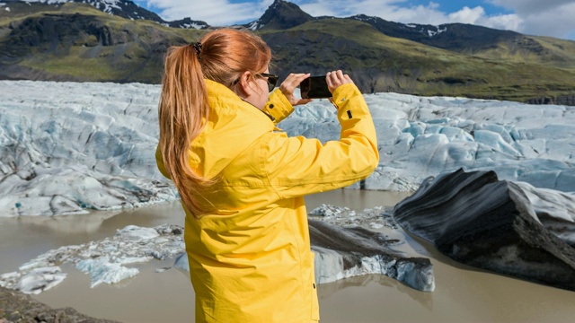
<path fill-rule="evenodd" d="M 1 79 L 159 83 L 165 50 L 212 28 L 115 8 L 136 5 L 128 0 L 41 1 L 0 0 Z M 460 23 L 312 17 L 283 0 L 257 21 L 232 27 L 252 29 L 270 44 L 280 77 L 341 68 L 363 92 L 575 105 L 575 41 Z"/>

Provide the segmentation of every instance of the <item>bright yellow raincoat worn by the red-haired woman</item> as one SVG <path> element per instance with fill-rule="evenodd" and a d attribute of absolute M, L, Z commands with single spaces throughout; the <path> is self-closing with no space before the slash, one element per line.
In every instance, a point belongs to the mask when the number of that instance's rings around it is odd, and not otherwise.
<path fill-rule="evenodd" d="M 278 131 L 275 124 L 293 111 L 279 90 L 262 112 L 226 86 L 206 83 L 211 110 L 190 163 L 204 178 L 219 180 L 202 191 L 207 213 L 199 220 L 186 214 L 196 321 L 316 321 L 303 196 L 349 186 L 375 170 L 376 130 L 367 104 L 354 84 L 341 85 L 333 93 L 341 139 L 322 144 Z M 158 168 L 167 176 L 159 152 Z"/>

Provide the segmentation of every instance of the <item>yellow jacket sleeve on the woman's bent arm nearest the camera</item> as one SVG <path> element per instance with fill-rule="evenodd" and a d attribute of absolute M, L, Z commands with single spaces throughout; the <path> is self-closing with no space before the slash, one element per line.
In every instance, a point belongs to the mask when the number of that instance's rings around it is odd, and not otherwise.
<path fill-rule="evenodd" d="M 354 84 L 333 92 L 341 123 L 340 140 L 322 144 L 303 136 L 270 136 L 264 157 L 270 187 L 281 198 L 343 188 L 365 179 L 377 167 L 376 128 Z"/>

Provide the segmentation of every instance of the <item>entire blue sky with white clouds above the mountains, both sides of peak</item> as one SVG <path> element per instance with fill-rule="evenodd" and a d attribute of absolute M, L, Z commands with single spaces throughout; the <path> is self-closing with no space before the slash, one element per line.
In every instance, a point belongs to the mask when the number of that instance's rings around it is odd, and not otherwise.
<path fill-rule="evenodd" d="M 136 0 L 167 21 L 184 17 L 213 26 L 252 22 L 273 0 Z M 536 36 L 575 39 L 575 0 L 292 0 L 312 16 L 364 13 L 392 22 L 463 22 Z"/>

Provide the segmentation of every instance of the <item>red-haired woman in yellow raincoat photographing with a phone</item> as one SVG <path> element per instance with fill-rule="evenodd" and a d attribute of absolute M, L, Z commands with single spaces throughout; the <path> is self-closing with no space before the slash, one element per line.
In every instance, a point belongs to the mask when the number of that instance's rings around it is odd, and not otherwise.
<path fill-rule="evenodd" d="M 376 131 L 348 75 L 328 73 L 341 139 L 288 137 L 275 125 L 310 100 L 290 74 L 271 92 L 270 48 L 221 29 L 171 48 L 159 104 L 158 168 L 186 211 L 197 322 L 319 320 L 307 194 L 343 188 L 376 168 Z"/>

